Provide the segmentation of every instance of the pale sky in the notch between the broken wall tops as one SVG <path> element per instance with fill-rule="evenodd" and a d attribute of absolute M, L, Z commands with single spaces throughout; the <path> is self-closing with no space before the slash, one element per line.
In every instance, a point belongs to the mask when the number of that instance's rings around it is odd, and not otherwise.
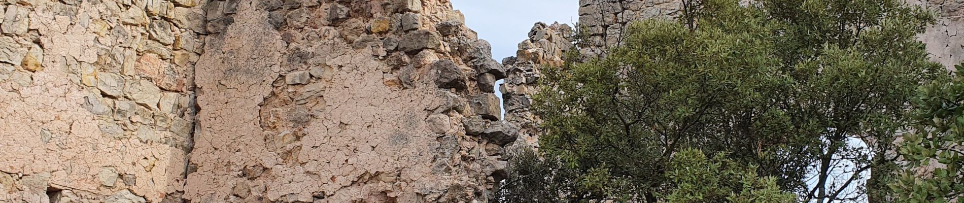
<path fill-rule="evenodd" d="M 466 24 L 492 44 L 495 61 L 516 56 L 519 42 L 536 22 L 566 23 L 579 19 L 578 0 L 452 0 Z"/>

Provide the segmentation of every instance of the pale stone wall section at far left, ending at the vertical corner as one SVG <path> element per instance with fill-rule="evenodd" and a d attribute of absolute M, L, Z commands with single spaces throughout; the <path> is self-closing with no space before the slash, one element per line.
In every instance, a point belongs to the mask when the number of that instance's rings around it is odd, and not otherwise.
<path fill-rule="evenodd" d="M 181 190 L 201 6 L 0 1 L 0 202 L 160 202 Z"/>

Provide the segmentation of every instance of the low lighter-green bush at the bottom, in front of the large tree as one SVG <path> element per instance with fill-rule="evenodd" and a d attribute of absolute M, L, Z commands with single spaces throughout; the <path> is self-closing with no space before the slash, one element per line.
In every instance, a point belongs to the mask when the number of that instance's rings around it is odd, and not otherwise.
<path fill-rule="evenodd" d="M 780 190 L 776 179 L 757 175 L 757 166 L 741 165 L 718 153 L 711 159 L 700 150 L 673 155 L 667 177 L 676 187 L 669 203 L 791 203 L 796 195 Z"/>

